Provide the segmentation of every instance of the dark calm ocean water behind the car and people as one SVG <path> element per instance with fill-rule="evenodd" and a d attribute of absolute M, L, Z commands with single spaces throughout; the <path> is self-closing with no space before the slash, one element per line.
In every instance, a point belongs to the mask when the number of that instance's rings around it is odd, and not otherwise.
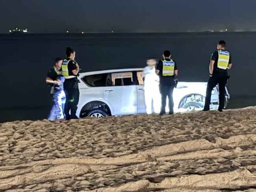
<path fill-rule="evenodd" d="M 46 118 L 45 78 L 65 48 L 76 50 L 82 72 L 137 68 L 170 50 L 180 81 L 207 81 L 211 53 L 225 40 L 232 54 L 230 108 L 256 105 L 256 33 L 0 34 L 0 122 Z"/>

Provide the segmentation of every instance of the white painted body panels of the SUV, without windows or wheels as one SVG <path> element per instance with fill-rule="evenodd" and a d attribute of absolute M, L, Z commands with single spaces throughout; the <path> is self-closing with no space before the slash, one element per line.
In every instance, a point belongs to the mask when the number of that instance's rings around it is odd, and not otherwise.
<path fill-rule="evenodd" d="M 143 71 L 143 68 L 104 70 L 81 73 L 80 77 L 78 78 L 81 83 L 79 84 L 80 99 L 76 115 L 80 116 L 80 112 L 83 106 L 89 102 L 94 101 L 106 103 L 111 111 L 111 115 L 146 113 L 143 90 L 144 85 L 90 87 L 82 80 L 84 76 L 89 75 L 131 71 Z M 184 111 L 184 109 L 179 109 L 179 104 L 181 100 L 189 94 L 199 94 L 205 97 L 206 86 L 207 82 L 178 82 L 178 86 L 174 89 L 173 92 L 174 112 Z M 216 92 L 212 95 L 211 102 L 218 102 L 218 95 Z M 159 104 L 161 105 L 161 102 Z"/>

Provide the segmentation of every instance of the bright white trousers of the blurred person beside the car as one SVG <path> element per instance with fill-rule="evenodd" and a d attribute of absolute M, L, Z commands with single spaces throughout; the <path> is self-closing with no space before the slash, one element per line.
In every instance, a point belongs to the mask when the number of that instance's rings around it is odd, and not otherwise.
<path fill-rule="evenodd" d="M 154 84 L 156 84 L 156 83 L 154 83 Z M 161 94 L 160 94 L 158 85 L 145 86 L 144 94 L 145 94 L 145 104 L 146 104 L 147 114 L 152 113 L 152 102 L 153 102 L 154 112 L 160 113 Z"/>

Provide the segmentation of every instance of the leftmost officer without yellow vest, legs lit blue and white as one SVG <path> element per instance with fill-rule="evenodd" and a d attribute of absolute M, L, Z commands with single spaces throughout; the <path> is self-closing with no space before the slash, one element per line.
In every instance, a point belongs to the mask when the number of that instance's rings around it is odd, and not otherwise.
<path fill-rule="evenodd" d="M 52 109 L 48 120 L 54 121 L 56 119 L 64 119 L 64 105 L 66 101 L 65 93 L 63 90 L 63 82 L 65 78 L 61 74 L 61 63 L 62 59 L 57 58 L 55 65 L 48 71 L 46 77 L 46 83 L 50 83 L 51 94 L 52 94 Z"/>

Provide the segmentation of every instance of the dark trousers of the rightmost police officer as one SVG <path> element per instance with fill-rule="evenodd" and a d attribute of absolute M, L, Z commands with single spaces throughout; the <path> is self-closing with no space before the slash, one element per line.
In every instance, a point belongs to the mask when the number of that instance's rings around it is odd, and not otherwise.
<path fill-rule="evenodd" d="M 228 74 L 223 72 L 223 73 L 216 73 L 208 79 L 208 84 L 206 88 L 206 98 L 204 103 L 204 111 L 210 110 L 211 91 L 217 84 L 219 85 L 219 109 L 218 110 L 222 111 L 222 109 L 224 109 L 225 86 L 226 86 L 227 78 L 228 78 Z"/>

